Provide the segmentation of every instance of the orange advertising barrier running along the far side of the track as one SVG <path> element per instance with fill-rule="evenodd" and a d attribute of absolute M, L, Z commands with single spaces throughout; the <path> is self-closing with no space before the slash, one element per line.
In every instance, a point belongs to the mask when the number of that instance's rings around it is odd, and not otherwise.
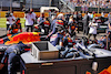
<path fill-rule="evenodd" d="M 6 13 L 8 11 L 0 11 L 0 18 L 6 18 Z M 34 12 L 37 14 L 37 17 L 40 17 L 40 12 Z M 82 13 L 82 17 L 84 17 L 85 13 Z M 19 12 L 19 11 L 14 11 L 13 15 L 16 18 L 24 18 L 24 12 Z M 49 17 L 49 12 L 44 12 L 44 17 Z M 101 17 L 101 13 L 95 13 L 94 17 Z M 104 14 L 104 17 L 108 17 L 108 13 Z"/>

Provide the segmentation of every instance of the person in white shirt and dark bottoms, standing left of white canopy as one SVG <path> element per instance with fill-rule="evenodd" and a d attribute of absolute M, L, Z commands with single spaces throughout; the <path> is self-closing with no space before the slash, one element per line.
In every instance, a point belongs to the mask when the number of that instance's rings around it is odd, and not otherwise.
<path fill-rule="evenodd" d="M 30 12 L 26 14 L 24 19 L 26 19 L 26 31 L 29 32 L 29 28 L 30 28 L 32 32 L 34 20 L 36 20 L 34 13 L 32 13 L 32 11 L 30 10 Z"/>

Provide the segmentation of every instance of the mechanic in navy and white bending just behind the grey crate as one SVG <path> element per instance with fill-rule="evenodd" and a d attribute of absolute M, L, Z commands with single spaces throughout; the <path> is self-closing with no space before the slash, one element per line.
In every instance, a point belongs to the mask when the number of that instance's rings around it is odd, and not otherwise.
<path fill-rule="evenodd" d="M 58 28 L 58 32 L 50 36 L 50 43 L 54 45 L 59 51 L 68 46 L 68 32 L 63 28 Z"/>

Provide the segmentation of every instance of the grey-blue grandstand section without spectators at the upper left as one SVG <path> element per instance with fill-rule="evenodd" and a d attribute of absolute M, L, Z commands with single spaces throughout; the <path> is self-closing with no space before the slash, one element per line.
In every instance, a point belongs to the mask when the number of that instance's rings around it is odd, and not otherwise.
<path fill-rule="evenodd" d="M 22 11 L 23 8 L 33 8 L 34 11 L 39 11 L 40 7 L 58 7 L 58 2 L 59 0 L 0 0 L 0 10 Z"/>

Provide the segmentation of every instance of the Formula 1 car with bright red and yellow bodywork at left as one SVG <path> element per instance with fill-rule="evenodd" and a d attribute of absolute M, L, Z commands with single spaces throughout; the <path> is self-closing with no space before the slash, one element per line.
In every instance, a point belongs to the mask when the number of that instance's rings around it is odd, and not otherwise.
<path fill-rule="evenodd" d="M 30 51 L 31 49 L 31 42 L 40 41 L 40 33 L 39 32 L 21 32 L 16 34 L 6 34 L 0 36 L 0 61 L 2 60 L 2 56 L 4 54 L 4 51 L 12 44 L 18 44 L 19 42 L 22 42 L 23 44 L 27 44 L 24 51 Z M 16 56 L 17 64 L 20 64 L 20 60 L 18 56 Z M 19 67 L 20 65 L 18 65 Z M 18 68 L 17 68 L 18 70 Z M 8 68 L 7 65 L 0 70 L 0 74 L 7 74 Z"/>

